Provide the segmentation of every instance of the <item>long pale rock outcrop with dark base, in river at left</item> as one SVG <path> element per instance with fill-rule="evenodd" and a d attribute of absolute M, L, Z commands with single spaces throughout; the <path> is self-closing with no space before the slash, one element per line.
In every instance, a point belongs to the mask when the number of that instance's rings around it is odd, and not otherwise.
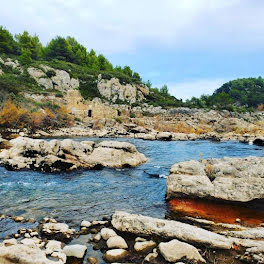
<path fill-rule="evenodd" d="M 78 168 L 135 167 L 147 161 L 144 154 L 126 142 L 76 142 L 70 139 L 39 140 L 18 137 L 11 148 L 0 153 L 1 164 L 10 170 L 31 169 L 44 172 Z"/>

